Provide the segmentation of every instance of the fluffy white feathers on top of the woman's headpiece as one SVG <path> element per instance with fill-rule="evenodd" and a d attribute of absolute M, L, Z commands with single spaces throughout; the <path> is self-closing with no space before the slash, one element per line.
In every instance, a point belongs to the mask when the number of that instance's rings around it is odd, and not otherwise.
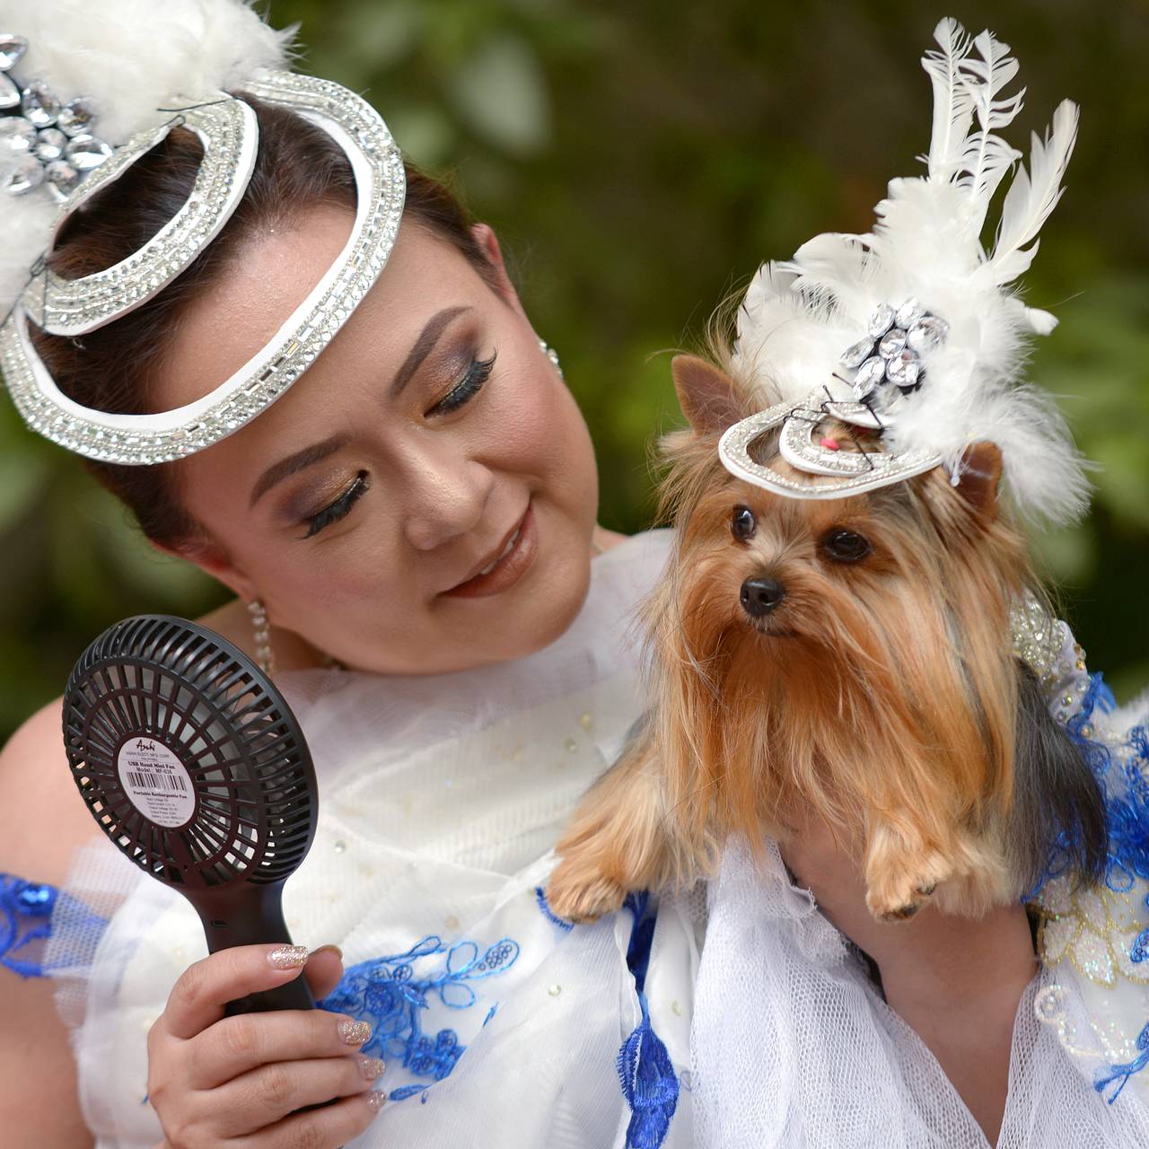
<path fill-rule="evenodd" d="M 29 41 L 13 70 L 67 102 L 97 108 L 93 133 L 113 146 L 163 123 L 172 98 L 242 85 L 290 64 L 294 29 L 276 31 L 247 0 L 0 0 L 0 28 Z M 44 253 L 55 207 L 47 191 L 5 196 L 0 213 L 0 318 Z"/>

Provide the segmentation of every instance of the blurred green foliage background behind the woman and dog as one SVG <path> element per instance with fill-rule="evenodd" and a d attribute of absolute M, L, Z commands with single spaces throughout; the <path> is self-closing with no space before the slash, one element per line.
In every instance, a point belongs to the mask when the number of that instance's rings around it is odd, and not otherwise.
<path fill-rule="evenodd" d="M 1069 191 L 1028 299 L 1062 325 L 1033 377 L 1100 466 L 1092 517 L 1036 539 L 1119 697 L 1149 683 L 1149 6 L 1146 0 L 272 0 L 301 68 L 365 93 L 406 153 L 454 173 L 509 253 L 591 424 L 602 520 L 650 520 L 669 358 L 764 259 L 865 231 L 919 170 L 942 15 L 1012 45 L 1015 141 L 1082 105 Z M 154 554 L 78 462 L 0 402 L 0 738 L 57 695 L 105 626 L 222 601 Z"/>

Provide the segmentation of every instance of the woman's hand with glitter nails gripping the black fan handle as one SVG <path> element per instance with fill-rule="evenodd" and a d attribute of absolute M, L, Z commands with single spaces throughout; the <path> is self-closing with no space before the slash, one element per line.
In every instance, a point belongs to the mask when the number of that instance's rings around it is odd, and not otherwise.
<path fill-rule="evenodd" d="M 337 1149 L 371 1124 L 383 1063 L 358 1052 L 370 1027 L 326 1010 L 225 1017 L 228 1002 L 300 974 L 315 996 L 342 973 L 339 951 L 238 946 L 190 966 L 148 1033 L 148 1100 L 163 1149 Z M 340 1098 L 331 1105 L 323 1105 Z M 298 1112 L 309 1105 L 323 1105 Z"/>

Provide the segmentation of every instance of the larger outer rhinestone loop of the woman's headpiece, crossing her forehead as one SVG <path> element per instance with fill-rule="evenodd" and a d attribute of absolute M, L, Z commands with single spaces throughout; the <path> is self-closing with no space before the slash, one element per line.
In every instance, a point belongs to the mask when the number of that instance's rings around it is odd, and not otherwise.
<path fill-rule="evenodd" d="M 264 71 L 245 91 L 299 111 L 347 154 L 358 201 L 346 246 L 256 356 L 196 402 L 155 415 L 95 411 L 68 399 L 32 348 L 28 313 L 17 304 L 0 327 L 0 370 L 24 421 L 53 442 L 125 465 L 167 463 L 210 447 L 275 402 L 315 362 L 383 271 L 399 231 L 406 177 L 378 113 L 339 84 L 286 71 Z"/>

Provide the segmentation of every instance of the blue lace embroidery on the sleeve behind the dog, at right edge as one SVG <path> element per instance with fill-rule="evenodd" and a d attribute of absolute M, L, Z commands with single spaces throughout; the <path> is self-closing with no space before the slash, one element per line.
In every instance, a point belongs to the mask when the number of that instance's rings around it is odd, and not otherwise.
<path fill-rule="evenodd" d="M 1149 880 L 1149 732 L 1134 726 L 1116 757 L 1109 747 L 1094 740 L 1092 722 L 1095 712 L 1109 714 L 1116 703 L 1101 674 L 1092 674 L 1089 688 L 1081 699 L 1081 707 L 1065 724 L 1066 732 L 1081 750 L 1093 770 L 1105 801 L 1105 822 L 1109 828 L 1109 856 L 1105 865 L 1105 885 L 1115 893 L 1128 893 L 1136 878 Z M 1070 843 L 1054 843 L 1049 865 L 1033 893 L 1051 878 L 1065 872 Z M 1149 909 L 1149 896 L 1146 897 Z M 1149 930 L 1133 941 L 1129 956 L 1134 962 L 1149 959 Z M 1120 1065 L 1098 1070 L 1094 1088 L 1104 1096 L 1105 1089 L 1117 1085 L 1108 1097 L 1117 1101 L 1126 1081 L 1149 1065 L 1149 1023 L 1138 1035 L 1139 1055 Z"/>

